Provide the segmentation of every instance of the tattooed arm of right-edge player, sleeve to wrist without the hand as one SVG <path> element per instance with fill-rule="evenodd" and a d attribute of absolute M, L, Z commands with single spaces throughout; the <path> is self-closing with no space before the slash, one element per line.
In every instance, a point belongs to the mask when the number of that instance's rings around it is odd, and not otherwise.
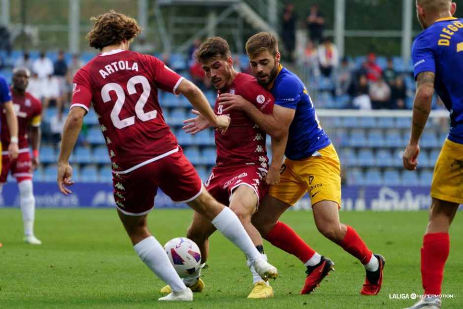
<path fill-rule="evenodd" d="M 412 132 L 410 143 L 417 144 L 425 128 L 431 111 L 432 95 L 434 94 L 434 73 L 422 72 L 416 79 L 416 95 L 413 103 Z"/>

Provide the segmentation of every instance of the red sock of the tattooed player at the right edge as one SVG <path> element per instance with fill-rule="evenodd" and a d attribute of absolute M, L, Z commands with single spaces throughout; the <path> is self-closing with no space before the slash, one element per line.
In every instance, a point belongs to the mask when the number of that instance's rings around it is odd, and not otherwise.
<path fill-rule="evenodd" d="M 426 234 L 421 248 L 421 279 L 426 295 L 440 295 L 445 261 L 449 256 L 450 237 L 447 233 Z"/>

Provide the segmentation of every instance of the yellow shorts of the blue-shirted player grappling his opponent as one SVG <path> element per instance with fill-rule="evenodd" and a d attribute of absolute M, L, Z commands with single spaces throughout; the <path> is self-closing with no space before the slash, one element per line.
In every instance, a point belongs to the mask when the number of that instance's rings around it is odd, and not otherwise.
<path fill-rule="evenodd" d="M 268 194 L 294 205 L 307 192 L 312 205 L 328 200 L 341 205 L 341 163 L 334 146 L 318 150 L 303 160 L 286 159 L 278 184 L 270 186 Z"/>

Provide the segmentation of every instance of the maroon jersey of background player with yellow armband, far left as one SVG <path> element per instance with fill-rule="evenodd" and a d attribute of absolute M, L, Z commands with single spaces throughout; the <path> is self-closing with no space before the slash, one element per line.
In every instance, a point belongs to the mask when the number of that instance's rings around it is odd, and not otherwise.
<path fill-rule="evenodd" d="M 18 118 L 18 148 L 28 149 L 28 131 L 29 126 L 40 126 L 40 114 L 42 113 L 42 104 L 35 99 L 29 92 L 24 95 L 18 95 L 11 91 L 13 108 Z M 8 149 L 10 143 L 10 132 L 6 123 L 5 111 L 1 113 L 1 146 L 2 149 Z"/>

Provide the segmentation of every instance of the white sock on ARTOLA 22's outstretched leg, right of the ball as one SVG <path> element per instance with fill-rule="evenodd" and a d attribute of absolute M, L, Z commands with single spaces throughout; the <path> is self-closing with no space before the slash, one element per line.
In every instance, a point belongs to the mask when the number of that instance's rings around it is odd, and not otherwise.
<path fill-rule="evenodd" d="M 261 259 L 261 253 L 256 249 L 251 238 L 246 233 L 236 214 L 229 208 L 224 209 L 211 222 L 228 240 L 243 251 L 246 258 L 254 263 Z"/>

